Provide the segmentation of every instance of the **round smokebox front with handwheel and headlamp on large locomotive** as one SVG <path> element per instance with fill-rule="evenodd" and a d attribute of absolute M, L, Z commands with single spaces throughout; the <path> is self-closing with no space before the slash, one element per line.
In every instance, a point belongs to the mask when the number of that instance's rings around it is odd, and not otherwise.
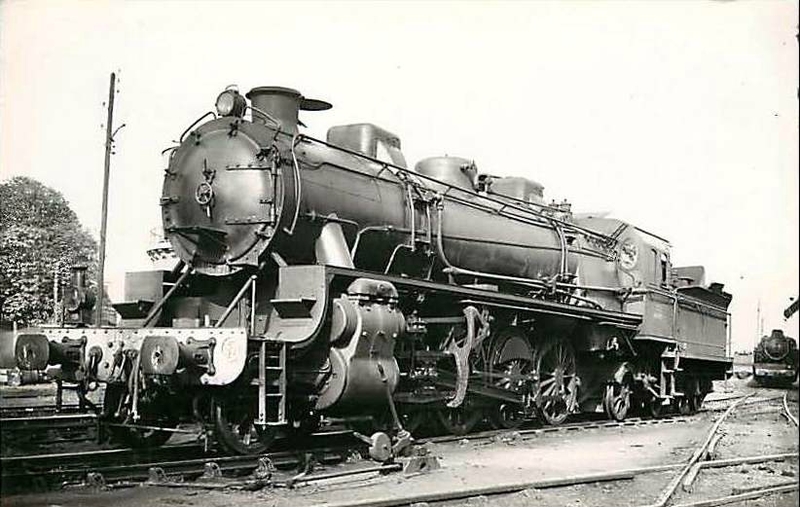
<path fill-rule="evenodd" d="M 227 116 L 187 132 L 164 176 L 165 234 L 184 262 L 209 275 L 257 264 L 280 218 L 272 132 L 244 120 L 244 104 L 238 92 L 223 92 L 217 109 Z"/>

